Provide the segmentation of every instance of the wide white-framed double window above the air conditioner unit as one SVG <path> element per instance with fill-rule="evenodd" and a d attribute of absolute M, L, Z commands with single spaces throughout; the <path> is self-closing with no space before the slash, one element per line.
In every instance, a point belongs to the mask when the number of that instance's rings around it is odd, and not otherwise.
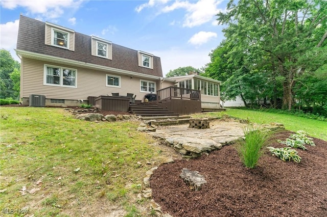
<path fill-rule="evenodd" d="M 44 85 L 76 87 L 76 69 L 44 65 Z"/>

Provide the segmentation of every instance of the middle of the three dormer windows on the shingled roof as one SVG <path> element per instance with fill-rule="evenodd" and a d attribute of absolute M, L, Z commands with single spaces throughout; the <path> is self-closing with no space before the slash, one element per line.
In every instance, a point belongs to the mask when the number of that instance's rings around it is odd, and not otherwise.
<path fill-rule="evenodd" d="M 112 42 L 96 36 L 91 37 L 91 55 L 112 60 Z"/>

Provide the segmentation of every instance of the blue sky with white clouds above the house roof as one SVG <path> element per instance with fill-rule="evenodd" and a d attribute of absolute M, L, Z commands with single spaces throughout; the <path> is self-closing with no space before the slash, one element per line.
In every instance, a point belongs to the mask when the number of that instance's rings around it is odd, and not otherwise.
<path fill-rule="evenodd" d="M 19 15 L 143 50 L 161 58 L 164 75 L 178 67 L 201 68 L 223 39 L 216 14 L 226 0 L 86 1 L 1 0 L 1 48 L 15 55 Z"/>

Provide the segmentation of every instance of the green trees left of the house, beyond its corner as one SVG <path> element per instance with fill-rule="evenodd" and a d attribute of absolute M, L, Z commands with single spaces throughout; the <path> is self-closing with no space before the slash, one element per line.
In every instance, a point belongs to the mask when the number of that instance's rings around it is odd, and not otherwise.
<path fill-rule="evenodd" d="M 18 98 L 20 64 L 8 50 L 0 50 L 0 98 Z"/>

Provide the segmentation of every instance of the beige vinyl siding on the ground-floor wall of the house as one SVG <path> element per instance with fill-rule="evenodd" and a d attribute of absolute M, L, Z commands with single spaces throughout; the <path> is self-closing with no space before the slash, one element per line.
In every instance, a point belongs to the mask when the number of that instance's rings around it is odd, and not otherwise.
<path fill-rule="evenodd" d="M 144 100 L 147 93 L 140 92 L 140 80 L 133 76 L 120 75 L 114 72 L 104 72 L 98 70 L 89 70 L 79 67 L 71 67 L 66 65 L 58 65 L 54 63 L 42 62 L 32 59 L 22 58 L 22 73 L 21 73 L 21 97 L 29 97 L 30 94 L 45 95 L 47 99 L 74 99 L 87 100 L 88 96 L 106 96 L 111 93 L 120 93 L 126 96 L 127 93 L 136 94 L 137 100 Z M 44 64 L 52 66 L 74 68 L 77 71 L 77 88 L 71 87 L 54 87 L 43 84 Z M 107 87 L 106 74 L 118 75 L 121 77 L 121 88 Z M 157 80 L 151 80 L 156 83 Z"/>

